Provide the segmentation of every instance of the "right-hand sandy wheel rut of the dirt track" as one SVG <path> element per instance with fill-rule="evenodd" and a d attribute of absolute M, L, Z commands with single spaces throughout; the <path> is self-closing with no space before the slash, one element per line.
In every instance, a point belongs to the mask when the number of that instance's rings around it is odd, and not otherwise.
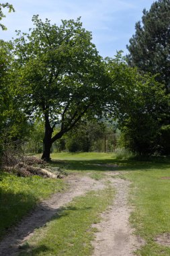
<path fill-rule="evenodd" d="M 93 256 L 132 256 L 143 241 L 136 237 L 129 224 L 132 209 L 127 204 L 129 181 L 123 179 L 110 179 L 116 188 L 114 204 L 101 214 L 101 221 L 94 224 L 97 228 Z"/>

